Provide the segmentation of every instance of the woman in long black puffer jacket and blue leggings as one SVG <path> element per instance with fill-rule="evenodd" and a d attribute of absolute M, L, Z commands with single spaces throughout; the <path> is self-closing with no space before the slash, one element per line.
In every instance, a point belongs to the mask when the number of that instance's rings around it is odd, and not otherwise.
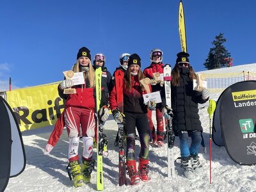
<path fill-rule="evenodd" d="M 168 117 L 166 113 L 169 113 L 173 116 L 173 131 L 180 139 L 182 167 L 185 176 L 193 179 L 194 173 L 198 172 L 201 166 L 198 161 L 198 149 L 202 141 L 203 129 L 198 115 L 198 103 L 207 102 L 210 93 L 207 89 L 203 89 L 202 92 L 193 90 L 193 79 L 196 79 L 196 74 L 189 65 L 188 56 L 186 52 L 177 54 L 176 64 L 172 70 L 172 109 L 165 106 L 163 115 Z M 191 137 L 190 146 L 189 137 Z"/>

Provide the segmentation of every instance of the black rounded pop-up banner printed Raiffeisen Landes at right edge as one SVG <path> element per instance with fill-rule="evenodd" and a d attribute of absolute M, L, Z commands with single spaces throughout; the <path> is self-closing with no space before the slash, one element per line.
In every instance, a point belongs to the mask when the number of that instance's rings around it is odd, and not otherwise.
<path fill-rule="evenodd" d="M 221 94 L 219 109 L 228 156 L 239 164 L 256 164 L 256 81 L 229 86 Z"/>

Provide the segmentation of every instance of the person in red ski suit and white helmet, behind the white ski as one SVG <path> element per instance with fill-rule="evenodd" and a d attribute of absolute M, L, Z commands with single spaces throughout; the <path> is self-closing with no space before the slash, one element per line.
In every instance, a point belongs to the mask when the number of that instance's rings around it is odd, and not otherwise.
<path fill-rule="evenodd" d="M 159 91 L 161 94 L 161 90 L 163 90 L 163 71 L 164 71 L 164 63 L 163 60 L 163 51 L 160 49 L 153 49 L 150 52 L 150 61 L 152 62 L 149 67 L 143 70 L 143 74 L 145 77 L 150 79 L 150 83 L 152 86 L 152 92 Z M 154 79 L 153 74 L 158 72 L 160 76 L 158 77 L 159 81 Z M 156 122 L 157 128 L 155 129 L 154 124 L 152 122 L 152 111 L 148 110 L 148 122 L 150 131 L 152 132 L 152 144 L 157 144 L 158 147 L 163 146 L 164 140 L 164 125 L 163 125 L 163 113 L 161 112 L 161 104 L 156 105 Z"/>

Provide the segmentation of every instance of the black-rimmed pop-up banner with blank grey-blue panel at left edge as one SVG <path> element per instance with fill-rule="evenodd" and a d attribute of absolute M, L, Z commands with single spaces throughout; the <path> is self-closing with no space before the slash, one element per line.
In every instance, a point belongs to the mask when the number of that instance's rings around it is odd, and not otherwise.
<path fill-rule="evenodd" d="M 12 109 L 0 97 L 0 191 L 4 191 L 9 178 L 16 177 L 26 166 L 26 155 L 19 124 Z"/>

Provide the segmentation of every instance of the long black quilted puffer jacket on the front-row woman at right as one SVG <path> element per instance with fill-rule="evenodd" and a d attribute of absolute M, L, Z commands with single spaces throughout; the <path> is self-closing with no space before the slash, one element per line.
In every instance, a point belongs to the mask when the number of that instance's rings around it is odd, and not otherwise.
<path fill-rule="evenodd" d="M 179 86 L 172 86 L 173 131 L 203 131 L 198 115 L 198 103 L 202 93 L 193 90 L 193 81 L 189 79 L 188 72 L 180 72 Z"/>

